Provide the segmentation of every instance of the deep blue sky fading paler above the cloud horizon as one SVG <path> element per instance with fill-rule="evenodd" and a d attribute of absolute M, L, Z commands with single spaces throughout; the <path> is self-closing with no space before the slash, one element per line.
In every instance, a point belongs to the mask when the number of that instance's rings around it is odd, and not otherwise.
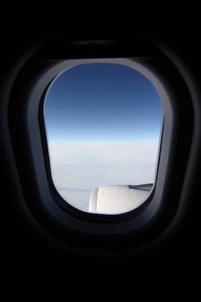
<path fill-rule="evenodd" d="M 56 78 L 44 116 L 50 143 L 158 141 L 162 108 L 153 84 L 140 72 L 91 63 Z"/>

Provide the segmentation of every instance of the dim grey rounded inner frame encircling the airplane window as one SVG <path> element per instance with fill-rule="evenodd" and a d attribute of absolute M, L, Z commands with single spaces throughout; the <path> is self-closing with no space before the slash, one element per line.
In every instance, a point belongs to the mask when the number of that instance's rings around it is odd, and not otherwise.
<path fill-rule="evenodd" d="M 92 59 L 92 60 L 94 62 L 97 61 L 98 59 L 97 60 Z M 117 61 L 117 60 L 119 63 L 119 58 L 115 58 L 115 59 L 113 58 L 113 61 Z M 123 58 L 123 60 L 125 59 Z M 145 210 L 142 210 L 140 213 L 137 212 L 138 211 L 137 208 L 127 213 L 117 214 L 117 215 L 86 213 L 78 209 L 75 209 L 74 207 L 72 207 L 73 211 L 71 213 L 67 213 L 66 210 L 64 210 L 61 206 L 59 206 L 57 202 L 55 202 L 54 192 L 50 192 L 51 189 L 50 186 L 48 185 L 47 177 L 46 177 L 46 169 L 44 165 L 44 153 L 41 145 L 41 130 L 40 130 L 41 126 L 39 125 L 38 122 L 38 107 L 40 101 L 42 100 L 41 98 L 44 97 L 45 89 L 47 89 L 49 83 L 60 72 L 61 69 L 62 70 L 66 69 L 67 66 L 66 62 L 69 64 L 70 60 L 59 60 L 59 61 L 38 60 L 37 64 L 34 61 L 29 63 L 26 67 L 26 68 L 30 68 L 31 66 L 31 68 L 33 69 L 33 73 L 31 79 L 27 79 L 26 92 L 23 92 L 23 101 L 20 109 L 23 109 L 23 119 L 21 123 L 24 124 L 25 126 L 23 130 L 23 137 L 25 138 L 25 141 L 27 143 L 25 148 L 28 148 L 30 152 L 30 155 L 28 155 L 29 158 L 28 161 L 30 163 L 32 176 L 30 177 L 30 179 L 24 181 L 25 183 L 27 183 L 27 181 L 29 182 L 29 188 L 32 186 L 37 191 L 37 198 L 36 198 L 37 200 L 32 199 L 30 202 L 29 198 L 26 199 L 27 199 L 27 203 L 29 204 L 30 211 L 35 216 L 37 216 L 37 219 L 40 220 L 40 223 L 42 223 L 41 218 L 43 220 L 44 213 L 45 213 L 46 222 L 48 222 L 49 225 L 48 227 L 50 228 L 49 230 L 53 233 L 55 232 L 55 230 L 53 230 L 54 227 L 56 226 L 56 230 L 58 231 L 57 227 L 60 224 L 59 229 L 60 231 L 61 229 L 63 230 L 63 233 L 65 233 L 64 236 L 66 236 L 66 231 L 68 232 L 69 230 L 71 230 L 71 234 L 72 233 L 73 234 L 76 233 L 79 235 L 88 234 L 89 236 L 93 236 L 93 238 L 94 236 L 97 235 L 99 237 L 109 236 L 111 238 L 111 236 L 112 237 L 125 236 L 126 234 L 132 233 L 135 234 L 134 237 L 136 239 L 140 238 L 140 240 L 142 240 L 142 236 L 141 236 L 142 230 L 143 230 L 143 238 L 147 236 L 150 237 L 150 234 L 153 235 L 153 233 L 156 231 L 154 229 L 154 225 L 151 223 L 151 220 L 155 220 L 154 224 L 157 225 L 160 221 L 159 224 L 161 226 L 161 219 L 163 219 L 162 213 L 164 214 L 164 209 L 167 208 L 167 202 L 165 202 L 162 199 L 164 199 L 165 192 L 167 192 L 170 186 L 168 183 L 167 175 L 169 174 L 169 170 L 172 170 L 171 158 L 175 153 L 175 147 L 173 146 L 173 144 L 175 142 L 175 139 L 177 138 L 178 128 L 179 128 L 176 127 L 176 125 L 180 123 L 178 108 L 177 106 L 175 106 L 177 97 L 175 96 L 175 91 L 174 92 L 172 91 L 171 85 L 169 85 L 168 83 L 169 81 L 167 81 L 167 79 L 163 77 L 160 70 L 160 66 L 157 66 L 155 62 L 153 62 L 150 59 L 150 60 L 146 60 L 146 64 L 145 64 L 145 60 L 143 59 L 129 59 L 129 60 L 132 60 L 132 62 L 134 62 L 135 60 L 135 69 L 141 73 L 143 73 L 142 70 L 137 69 L 136 64 L 138 64 L 139 66 L 143 66 L 144 70 L 146 69 L 146 71 L 148 71 L 151 74 L 151 76 L 154 77 L 156 83 L 158 83 L 158 85 L 162 87 L 162 91 L 166 100 L 166 106 L 168 106 L 168 110 L 169 110 L 168 112 L 170 113 L 171 116 L 170 119 L 168 119 L 167 111 L 165 112 L 164 110 L 165 119 L 164 119 L 164 128 L 163 128 L 163 139 L 162 139 L 162 144 L 160 144 L 160 161 L 161 161 L 161 157 L 163 158 L 162 158 L 162 165 L 161 164 L 157 165 L 158 172 L 159 170 L 160 173 L 163 172 L 162 173 L 163 177 L 160 177 L 160 180 L 157 180 L 156 186 L 154 186 L 153 188 L 154 193 L 151 196 L 152 198 L 151 202 L 149 203 L 147 208 Z M 23 71 L 23 75 L 26 72 L 26 68 Z M 147 77 L 147 74 L 145 74 L 145 76 Z M 156 83 L 154 85 L 155 88 L 157 86 Z M 21 88 L 22 88 L 22 83 L 21 83 Z M 161 93 L 159 92 L 159 89 L 156 88 L 156 90 L 159 93 L 161 101 L 164 102 L 164 96 L 161 97 L 160 95 Z M 12 98 L 14 101 L 16 98 L 16 93 L 13 93 Z M 188 99 L 188 96 L 186 96 L 186 98 Z M 36 104 L 37 102 L 38 105 Z M 189 105 L 190 100 L 188 100 L 187 103 Z M 14 115 L 12 115 L 12 117 L 14 117 Z M 175 120 L 176 117 L 178 118 L 177 120 Z M 171 119 L 172 119 L 172 123 L 170 126 Z M 13 130 L 11 130 L 11 132 L 13 132 Z M 12 134 L 13 136 L 15 135 L 14 133 L 15 131 Z M 42 140 L 44 141 L 44 139 Z M 14 149 L 17 149 L 16 147 L 17 144 L 15 141 L 13 142 L 13 144 L 14 144 Z M 169 152 L 167 152 L 167 150 L 169 150 Z M 19 156 L 19 152 L 17 152 L 16 155 L 17 155 L 16 156 L 17 159 L 17 157 Z M 187 158 L 185 158 L 185 161 L 187 161 Z M 23 174 L 24 172 L 22 171 L 22 175 Z M 34 189 L 32 189 L 32 192 L 34 191 Z M 181 190 L 181 187 L 179 188 L 179 190 Z M 26 192 L 25 195 L 30 196 L 30 192 Z M 150 207 L 150 205 L 152 206 Z M 178 202 L 176 205 L 174 205 L 174 207 L 172 206 L 172 203 L 169 204 L 169 207 L 171 208 L 168 211 L 169 222 L 173 218 L 173 214 L 175 213 L 177 206 L 178 206 Z M 174 208 L 174 210 L 172 210 L 172 208 Z M 41 209 L 41 213 L 39 213 L 39 209 Z M 47 224 L 45 227 L 47 228 Z M 144 232 L 145 228 L 146 228 L 146 232 Z"/>

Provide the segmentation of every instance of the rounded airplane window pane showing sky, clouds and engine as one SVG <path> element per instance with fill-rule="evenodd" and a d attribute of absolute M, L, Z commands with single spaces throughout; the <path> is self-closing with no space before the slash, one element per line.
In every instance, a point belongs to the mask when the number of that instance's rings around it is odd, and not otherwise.
<path fill-rule="evenodd" d="M 58 74 L 44 120 L 60 196 L 92 213 L 142 204 L 155 182 L 162 119 L 155 87 L 131 67 L 86 63 Z"/>

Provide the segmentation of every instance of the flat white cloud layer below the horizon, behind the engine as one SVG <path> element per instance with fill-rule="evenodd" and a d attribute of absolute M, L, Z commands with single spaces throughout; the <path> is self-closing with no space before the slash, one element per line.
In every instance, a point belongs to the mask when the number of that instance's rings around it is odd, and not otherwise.
<path fill-rule="evenodd" d="M 51 143 L 49 152 L 58 192 L 87 211 L 96 187 L 153 183 L 158 142 Z"/>

